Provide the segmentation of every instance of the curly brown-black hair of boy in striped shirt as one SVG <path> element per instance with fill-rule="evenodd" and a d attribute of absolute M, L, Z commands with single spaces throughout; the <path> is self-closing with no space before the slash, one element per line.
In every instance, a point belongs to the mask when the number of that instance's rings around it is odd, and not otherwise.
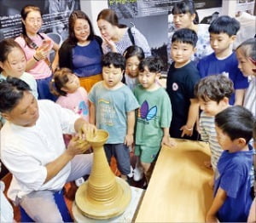
<path fill-rule="evenodd" d="M 195 84 L 195 96 L 198 99 L 208 101 L 213 100 L 217 103 L 224 97 L 230 99 L 235 92 L 234 84 L 229 77 L 222 74 L 210 75 L 202 78 Z"/>

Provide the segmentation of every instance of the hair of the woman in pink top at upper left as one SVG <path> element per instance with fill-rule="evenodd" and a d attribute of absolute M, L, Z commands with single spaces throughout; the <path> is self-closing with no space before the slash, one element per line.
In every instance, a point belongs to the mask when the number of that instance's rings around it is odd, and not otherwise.
<path fill-rule="evenodd" d="M 24 6 L 21 11 L 20 11 L 20 15 L 21 15 L 21 18 L 22 20 L 26 20 L 26 16 L 27 14 L 29 14 L 30 12 L 33 12 L 33 11 L 37 11 L 40 15 L 41 15 L 41 18 L 42 18 L 42 12 L 41 12 L 41 9 L 38 7 L 38 6 L 35 6 L 35 5 L 26 5 Z M 21 37 L 24 38 L 25 40 L 25 43 L 27 44 L 27 46 L 31 49 L 34 49 L 32 47 L 32 39 L 30 37 L 27 36 L 26 34 L 26 27 L 25 25 L 23 24 L 23 22 L 21 22 L 21 26 L 22 26 L 22 32 L 21 32 Z M 40 35 L 38 33 L 39 37 L 41 37 L 42 39 L 44 39 L 44 37 L 42 35 Z"/>

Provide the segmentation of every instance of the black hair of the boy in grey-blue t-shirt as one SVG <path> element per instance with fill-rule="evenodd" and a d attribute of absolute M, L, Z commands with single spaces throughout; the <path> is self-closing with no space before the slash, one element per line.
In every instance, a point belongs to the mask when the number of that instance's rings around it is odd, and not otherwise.
<path fill-rule="evenodd" d="M 121 68 L 125 70 L 125 57 L 122 54 L 108 52 L 108 54 L 102 55 L 102 66 L 110 67 L 113 65 L 115 68 Z"/>

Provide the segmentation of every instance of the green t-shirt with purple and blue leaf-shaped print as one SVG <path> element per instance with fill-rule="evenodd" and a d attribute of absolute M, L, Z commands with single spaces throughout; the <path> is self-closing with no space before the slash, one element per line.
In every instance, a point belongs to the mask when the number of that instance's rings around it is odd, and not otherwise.
<path fill-rule="evenodd" d="M 138 84 L 134 89 L 140 105 L 137 111 L 136 145 L 160 146 L 163 130 L 172 120 L 171 101 L 163 88 L 154 91 L 143 89 Z"/>

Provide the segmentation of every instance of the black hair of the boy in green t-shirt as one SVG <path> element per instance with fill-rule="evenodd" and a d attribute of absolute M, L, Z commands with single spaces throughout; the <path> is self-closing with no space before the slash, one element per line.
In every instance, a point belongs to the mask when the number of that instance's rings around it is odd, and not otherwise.
<path fill-rule="evenodd" d="M 146 66 L 150 72 L 160 72 L 164 68 L 163 62 L 159 56 L 149 56 L 143 59 L 139 64 L 139 71 L 143 72 Z"/>

